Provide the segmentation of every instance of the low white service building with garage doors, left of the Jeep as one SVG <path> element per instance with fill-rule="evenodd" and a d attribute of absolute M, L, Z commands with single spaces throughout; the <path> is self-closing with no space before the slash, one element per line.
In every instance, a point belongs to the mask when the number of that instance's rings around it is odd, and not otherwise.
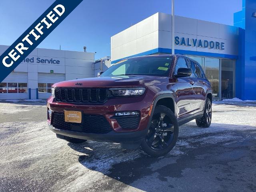
<path fill-rule="evenodd" d="M 8 47 L 0 45 L 0 54 Z M 0 100 L 47 99 L 56 82 L 94 77 L 94 54 L 36 48 L 0 83 Z"/>

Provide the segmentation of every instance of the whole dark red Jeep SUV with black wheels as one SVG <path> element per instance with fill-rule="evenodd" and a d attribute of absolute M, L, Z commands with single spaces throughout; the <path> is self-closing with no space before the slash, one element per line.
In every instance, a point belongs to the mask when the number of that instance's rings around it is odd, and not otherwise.
<path fill-rule="evenodd" d="M 212 89 L 198 62 L 182 55 L 118 61 L 96 78 L 52 86 L 48 125 L 57 138 L 141 146 L 151 156 L 174 147 L 178 126 L 196 119 L 209 127 Z"/>

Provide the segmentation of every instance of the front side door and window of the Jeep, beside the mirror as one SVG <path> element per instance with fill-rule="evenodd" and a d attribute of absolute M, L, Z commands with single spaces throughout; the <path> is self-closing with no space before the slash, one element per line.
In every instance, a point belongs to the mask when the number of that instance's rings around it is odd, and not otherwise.
<path fill-rule="evenodd" d="M 179 57 L 176 62 L 176 67 L 174 70 L 174 75 L 177 74 L 178 68 L 189 68 L 187 61 L 183 57 Z M 178 122 L 183 122 L 189 118 L 191 118 L 192 108 L 190 100 L 193 98 L 193 90 L 192 90 L 192 78 L 190 77 L 181 77 L 176 78 L 176 111 L 177 111 L 177 118 Z"/>

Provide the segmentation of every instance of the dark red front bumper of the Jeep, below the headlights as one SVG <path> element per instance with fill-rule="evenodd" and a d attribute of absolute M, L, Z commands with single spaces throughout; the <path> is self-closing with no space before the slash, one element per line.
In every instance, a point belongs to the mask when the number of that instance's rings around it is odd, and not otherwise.
<path fill-rule="evenodd" d="M 108 100 L 104 104 L 100 105 L 83 105 L 83 104 L 74 104 L 74 103 L 64 103 L 64 102 L 56 102 L 54 98 L 50 97 L 48 99 L 47 107 L 49 110 L 52 111 L 53 114 L 64 114 L 64 110 L 71 110 L 71 111 L 81 111 L 83 115 L 85 116 L 100 116 L 103 117 L 104 120 L 106 120 L 108 126 L 110 126 L 110 131 L 114 132 L 137 132 L 145 130 L 148 127 L 149 122 L 149 112 L 150 112 L 150 106 L 152 104 L 152 101 L 149 100 L 146 102 L 145 96 L 140 96 L 136 98 L 116 98 Z M 127 112 L 127 111 L 137 111 L 140 113 L 139 118 L 129 117 L 127 119 L 119 118 L 115 116 L 116 112 Z M 95 120 L 94 122 L 91 122 L 88 120 L 88 118 L 84 118 L 86 121 L 84 122 L 84 126 L 87 125 L 89 127 L 92 127 L 93 129 L 96 128 L 99 125 L 98 121 Z M 102 120 L 102 119 L 101 119 Z M 90 121 L 90 123 L 88 123 Z M 52 119 L 48 116 L 48 124 L 52 125 Z M 97 124 L 97 126 L 95 126 Z M 56 125 L 56 123 L 55 123 Z M 103 126 L 102 126 L 103 127 Z M 106 127 L 106 123 L 104 124 L 104 127 Z M 54 128 L 60 129 L 60 130 L 69 130 L 68 128 L 61 128 L 58 126 L 54 126 Z M 79 130 L 73 130 L 73 131 L 79 131 Z M 86 132 L 86 131 L 82 131 Z M 89 133 L 99 133 L 99 132 L 89 132 Z M 106 133 L 106 132 L 101 132 Z"/>

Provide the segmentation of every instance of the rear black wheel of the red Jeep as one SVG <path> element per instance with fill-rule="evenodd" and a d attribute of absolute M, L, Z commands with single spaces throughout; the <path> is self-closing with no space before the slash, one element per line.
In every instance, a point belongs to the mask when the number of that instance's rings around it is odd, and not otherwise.
<path fill-rule="evenodd" d="M 204 106 L 204 115 L 202 118 L 196 119 L 198 127 L 209 127 L 212 122 L 212 102 L 209 98 L 206 99 Z"/>

